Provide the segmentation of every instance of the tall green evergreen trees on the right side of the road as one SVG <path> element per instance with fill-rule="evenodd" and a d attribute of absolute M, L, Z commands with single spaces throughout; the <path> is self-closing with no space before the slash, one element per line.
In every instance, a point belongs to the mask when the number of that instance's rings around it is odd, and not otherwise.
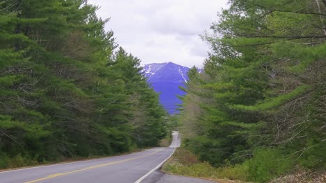
<path fill-rule="evenodd" d="M 325 171 L 326 1 L 228 2 L 180 97 L 183 146 L 244 181 Z"/>

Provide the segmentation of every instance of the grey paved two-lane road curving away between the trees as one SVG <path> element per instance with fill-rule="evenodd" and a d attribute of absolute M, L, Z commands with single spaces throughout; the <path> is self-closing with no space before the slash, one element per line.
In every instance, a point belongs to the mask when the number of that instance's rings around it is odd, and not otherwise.
<path fill-rule="evenodd" d="M 0 182 L 141 182 L 159 168 L 177 146 L 180 146 L 180 137 L 178 132 L 173 132 L 173 141 L 169 148 L 152 148 L 130 155 L 3 171 L 0 172 Z"/>

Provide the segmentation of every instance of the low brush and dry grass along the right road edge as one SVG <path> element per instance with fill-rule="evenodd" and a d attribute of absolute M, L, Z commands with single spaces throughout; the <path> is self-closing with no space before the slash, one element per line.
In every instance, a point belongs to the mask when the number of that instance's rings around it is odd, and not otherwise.
<path fill-rule="evenodd" d="M 256 157 L 243 164 L 225 164 L 216 167 L 209 162 L 201 162 L 196 155 L 186 148 L 177 148 L 176 152 L 162 167 L 162 171 L 173 175 L 201 177 L 220 183 L 323 183 L 326 181 L 325 171 L 313 171 L 299 166 L 295 167 L 291 173 L 274 177 L 273 172 L 284 171 L 284 166 L 288 166 L 288 162 L 276 162 L 272 159 L 275 157 L 268 160 Z M 261 162 L 265 162 L 265 164 L 259 164 Z M 270 174 L 266 175 L 268 172 Z"/>

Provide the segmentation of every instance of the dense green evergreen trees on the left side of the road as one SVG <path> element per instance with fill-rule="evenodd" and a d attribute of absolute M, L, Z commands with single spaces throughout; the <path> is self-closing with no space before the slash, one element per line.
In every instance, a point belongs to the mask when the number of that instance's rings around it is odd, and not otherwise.
<path fill-rule="evenodd" d="M 166 112 L 86 0 L 0 1 L 0 168 L 156 146 Z"/>

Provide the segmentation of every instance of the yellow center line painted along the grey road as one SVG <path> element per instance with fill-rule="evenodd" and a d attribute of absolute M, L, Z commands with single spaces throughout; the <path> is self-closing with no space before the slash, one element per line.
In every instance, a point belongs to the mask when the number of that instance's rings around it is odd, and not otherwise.
<path fill-rule="evenodd" d="M 81 168 L 81 169 L 76 170 L 76 171 L 70 171 L 70 172 L 65 172 L 65 173 L 56 173 L 56 174 L 48 175 L 47 177 L 42 177 L 40 179 L 31 180 L 31 181 L 25 182 L 25 183 L 40 182 L 42 180 L 48 180 L 48 179 L 51 179 L 51 178 L 54 178 L 54 177 L 59 177 L 59 176 L 62 176 L 62 175 L 68 175 L 70 173 L 77 173 L 77 172 L 81 172 L 81 171 L 91 170 L 93 168 L 100 168 L 102 166 L 109 166 L 111 164 L 118 164 L 118 163 L 122 163 L 122 162 L 127 162 L 127 161 L 131 161 L 131 160 L 134 160 L 134 159 L 139 159 L 141 157 L 146 157 L 146 156 L 149 156 L 149 155 L 154 155 L 155 153 L 160 152 L 161 150 L 163 150 L 163 149 L 156 150 L 154 153 L 150 153 L 148 155 L 142 155 L 142 156 L 139 156 L 139 157 L 132 157 L 132 158 L 129 158 L 129 159 L 123 159 L 123 160 L 116 161 L 116 162 L 110 162 L 110 163 L 107 163 L 107 164 L 98 164 L 98 165 L 95 165 L 95 166 L 88 166 L 87 168 Z"/>

